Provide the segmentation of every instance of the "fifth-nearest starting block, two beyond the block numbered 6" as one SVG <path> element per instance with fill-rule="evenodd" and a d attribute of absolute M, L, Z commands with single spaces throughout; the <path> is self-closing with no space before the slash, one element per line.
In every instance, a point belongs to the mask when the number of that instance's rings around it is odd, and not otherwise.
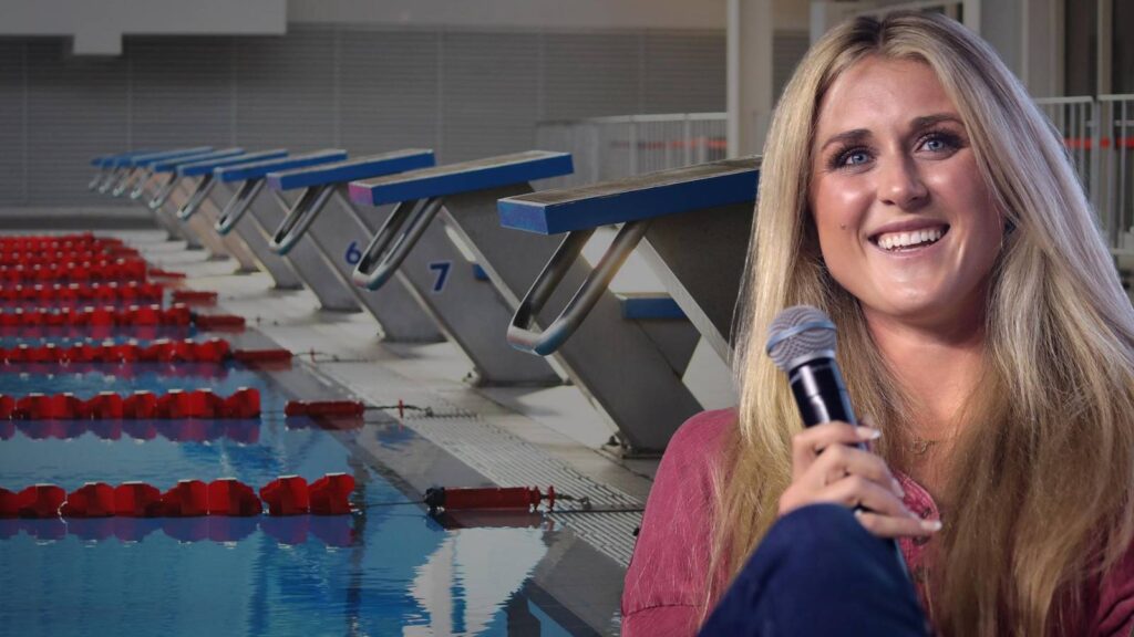
<path fill-rule="evenodd" d="M 255 153 L 245 153 L 240 155 L 179 164 L 177 167 L 177 173 L 181 177 L 181 179 L 196 178 L 197 185 L 193 193 L 185 198 L 177 209 L 175 219 L 183 226 L 194 224 L 198 228 L 203 228 L 202 231 L 205 235 L 214 237 L 215 233 L 213 232 L 212 226 L 220 216 L 220 207 L 217 201 L 212 197 L 218 181 L 213 171 L 220 167 L 242 165 L 270 159 L 280 159 L 284 156 L 287 156 L 286 150 L 273 148 L 270 151 L 260 151 Z M 295 269 L 291 267 L 291 264 L 270 250 L 264 237 L 256 232 L 252 227 L 245 227 L 236 235 L 218 238 L 226 244 L 231 241 L 240 243 L 243 249 L 251 253 L 257 265 L 268 272 L 268 274 L 272 278 L 277 289 L 297 290 L 303 288 L 303 280 L 299 279 L 299 275 L 296 273 Z"/>

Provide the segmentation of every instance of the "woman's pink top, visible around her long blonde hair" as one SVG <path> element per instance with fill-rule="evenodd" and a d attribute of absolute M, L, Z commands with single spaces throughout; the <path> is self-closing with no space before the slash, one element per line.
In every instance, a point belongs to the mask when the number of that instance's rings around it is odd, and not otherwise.
<path fill-rule="evenodd" d="M 704 411 L 682 425 L 666 450 L 650 492 L 634 558 L 623 593 L 626 637 L 694 635 L 705 600 L 709 523 L 713 507 L 711 469 L 720 444 L 735 426 L 731 409 Z M 897 474 L 909 510 L 925 519 L 939 517 L 937 504 L 920 484 Z M 924 580 L 925 542 L 903 538 L 902 552 L 917 581 Z M 1088 592 L 1082 635 L 1134 635 L 1134 551 Z"/>

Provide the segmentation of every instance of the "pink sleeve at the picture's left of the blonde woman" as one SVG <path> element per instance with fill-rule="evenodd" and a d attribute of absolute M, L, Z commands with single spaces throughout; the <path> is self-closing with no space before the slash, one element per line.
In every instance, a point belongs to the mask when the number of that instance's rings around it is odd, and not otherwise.
<path fill-rule="evenodd" d="M 626 637 L 696 632 L 710 555 L 712 470 L 735 419 L 731 409 L 704 411 L 670 440 L 626 572 Z"/>

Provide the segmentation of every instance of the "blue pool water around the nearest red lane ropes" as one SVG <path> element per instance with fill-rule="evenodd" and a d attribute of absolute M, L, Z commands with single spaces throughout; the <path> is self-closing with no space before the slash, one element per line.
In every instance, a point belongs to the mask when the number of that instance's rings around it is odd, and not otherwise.
<path fill-rule="evenodd" d="M 247 370 L 222 377 L 159 372 L 6 373 L 0 393 L 86 397 L 209 387 L 228 394 L 254 387 L 265 411 L 282 409 L 287 399 Z M 46 427 L 58 435 L 35 435 L 34 424 L 24 423 L 14 433 L 9 425 L 0 440 L 0 486 L 14 491 L 44 482 L 70 491 L 91 481 L 145 481 L 166 490 L 178 479 L 225 476 L 259 489 L 280 475 L 313 481 L 344 472 L 357 481 L 352 500 L 359 510 L 339 517 L 0 520 L 0 635 L 507 635 L 517 618 L 524 634 L 569 634 L 525 593 L 552 532 L 538 523 L 441 528 L 344 444 L 376 436 L 397 449 L 412 436 L 406 430 L 375 425 L 332 434 L 272 415 L 262 422 Z M 163 426 L 168 435 L 130 433 Z M 194 426 L 222 433 L 169 434 L 169 427 Z M 240 433 L 225 435 L 225 427 Z"/>

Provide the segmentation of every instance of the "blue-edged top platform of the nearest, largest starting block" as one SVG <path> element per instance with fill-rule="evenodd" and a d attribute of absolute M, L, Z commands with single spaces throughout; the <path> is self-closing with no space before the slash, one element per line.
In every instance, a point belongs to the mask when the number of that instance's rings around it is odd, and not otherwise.
<path fill-rule="evenodd" d="M 751 202 L 759 179 L 758 158 L 725 160 L 508 197 L 497 210 L 505 228 L 556 235 Z"/>

